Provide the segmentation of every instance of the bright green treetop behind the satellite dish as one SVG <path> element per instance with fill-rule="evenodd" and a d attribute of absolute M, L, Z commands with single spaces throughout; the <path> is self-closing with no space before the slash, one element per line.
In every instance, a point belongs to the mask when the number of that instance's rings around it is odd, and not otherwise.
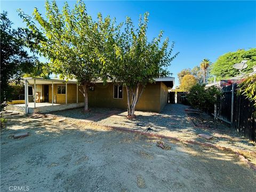
<path fill-rule="evenodd" d="M 235 63 L 240 63 L 242 60 L 248 60 L 248 67 L 243 69 L 243 72 L 252 72 L 252 67 L 256 65 L 256 49 L 253 48 L 247 51 L 238 50 L 236 52 L 229 52 L 221 55 L 218 60 L 213 63 L 211 74 L 217 77 L 217 81 L 220 79 L 235 77 L 239 75 L 239 70 L 233 68 L 233 65 Z"/>

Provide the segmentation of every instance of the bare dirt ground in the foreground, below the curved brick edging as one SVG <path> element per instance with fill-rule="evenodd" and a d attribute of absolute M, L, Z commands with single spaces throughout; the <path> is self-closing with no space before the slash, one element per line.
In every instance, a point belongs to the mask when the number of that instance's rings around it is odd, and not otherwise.
<path fill-rule="evenodd" d="M 255 172 L 224 151 L 50 118 L 6 115 L 1 191 L 255 191 Z M 12 135 L 29 132 L 29 137 Z"/>

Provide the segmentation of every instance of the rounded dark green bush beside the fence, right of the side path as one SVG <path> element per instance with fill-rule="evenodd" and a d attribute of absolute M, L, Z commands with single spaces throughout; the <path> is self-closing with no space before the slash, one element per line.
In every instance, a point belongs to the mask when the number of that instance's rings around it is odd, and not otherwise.
<path fill-rule="evenodd" d="M 220 95 L 220 90 L 215 86 L 205 88 L 205 85 L 196 84 L 191 87 L 187 94 L 187 99 L 192 107 L 201 111 L 207 111 L 218 102 L 217 98 L 220 97 Z"/>

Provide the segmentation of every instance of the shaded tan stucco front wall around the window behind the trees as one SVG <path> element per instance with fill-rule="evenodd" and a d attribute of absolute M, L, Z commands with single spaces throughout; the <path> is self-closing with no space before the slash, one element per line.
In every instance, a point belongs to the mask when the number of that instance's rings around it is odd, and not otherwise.
<path fill-rule="evenodd" d="M 136 109 L 159 112 L 161 110 L 160 87 L 161 83 L 159 82 L 147 85 L 137 103 Z M 113 83 L 107 83 L 106 85 L 103 85 L 103 83 L 95 84 L 94 91 L 89 91 L 89 106 L 126 109 L 127 94 L 125 87 L 123 88 L 123 99 L 114 99 L 113 92 Z"/>

